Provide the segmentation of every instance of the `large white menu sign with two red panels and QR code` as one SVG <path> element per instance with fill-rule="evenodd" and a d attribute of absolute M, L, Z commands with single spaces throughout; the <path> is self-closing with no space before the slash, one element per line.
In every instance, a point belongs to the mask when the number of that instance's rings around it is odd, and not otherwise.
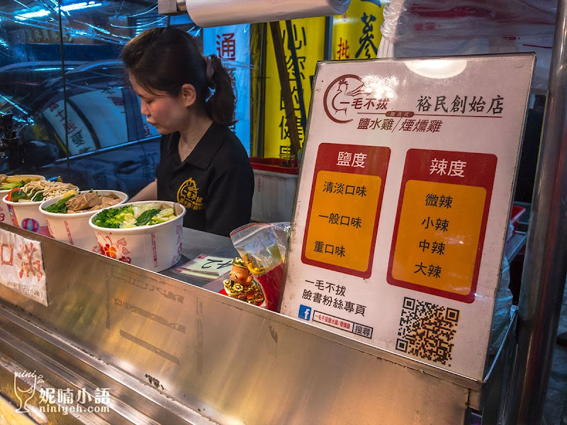
<path fill-rule="evenodd" d="M 320 62 L 281 312 L 482 380 L 533 68 Z"/>

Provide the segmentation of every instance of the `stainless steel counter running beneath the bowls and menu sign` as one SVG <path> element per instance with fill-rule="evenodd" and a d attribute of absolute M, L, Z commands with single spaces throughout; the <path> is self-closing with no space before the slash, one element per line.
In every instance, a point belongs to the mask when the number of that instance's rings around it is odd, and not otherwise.
<path fill-rule="evenodd" d="M 37 234 L 49 306 L 0 286 L 0 393 L 35 370 L 47 387 L 110 389 L 84 424 L 464 424 L 487 382 Z M 186 229 L 186 261 L 230 239 Z M 202 284 L 202 282 L 199 282 Z M 495 363 L 496 364 L 496 363 Z M 491 374 L 492 375 L 492 374 Z M 19 382 L 19 381 L 18 381 Z M 41 405 L 38 391 L 29 404 Z M 59 415 L 59 416 L 57 416 Z M 76 421 L 76 422 L 73 422 Z"/>

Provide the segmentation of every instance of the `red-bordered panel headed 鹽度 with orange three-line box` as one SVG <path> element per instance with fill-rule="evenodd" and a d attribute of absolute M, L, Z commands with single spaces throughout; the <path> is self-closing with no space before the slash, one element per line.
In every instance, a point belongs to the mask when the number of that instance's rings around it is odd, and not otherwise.
<path fill-rule="evenodd" d="M 370 277 L 389 159 L 387 147 L 319 146 L 303 263 Z"/>

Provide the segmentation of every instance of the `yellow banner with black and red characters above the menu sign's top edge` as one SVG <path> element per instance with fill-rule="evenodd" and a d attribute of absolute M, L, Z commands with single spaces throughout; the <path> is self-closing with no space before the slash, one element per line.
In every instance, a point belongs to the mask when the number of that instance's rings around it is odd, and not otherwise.
<path fill-rule="evenodd" d="M 332 60 L 375 59 L 382 38 L 386 1 L 352 0 L 347 12 L 332 19 Z"/>

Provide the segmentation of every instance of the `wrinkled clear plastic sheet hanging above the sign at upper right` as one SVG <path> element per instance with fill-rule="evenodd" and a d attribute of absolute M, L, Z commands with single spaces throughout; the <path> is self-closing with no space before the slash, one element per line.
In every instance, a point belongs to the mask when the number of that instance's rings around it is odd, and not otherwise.
<path fill-rule="evenodd" d="M 555 1 L 392 0 L 384 6 L 378 57 L 536 52 L 533 88 L 546 90 Z"/>

